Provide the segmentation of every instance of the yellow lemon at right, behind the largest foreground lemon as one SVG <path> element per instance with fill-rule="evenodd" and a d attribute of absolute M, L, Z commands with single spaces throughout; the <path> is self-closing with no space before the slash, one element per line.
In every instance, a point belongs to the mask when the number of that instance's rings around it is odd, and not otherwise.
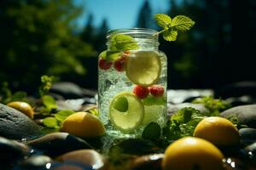
<path fill-rule="evenodd" d="M 201 120 L 195 127 L 194 136 L 217 145 L 238 144 L 240 141 L 239 132 L 235 125 L 218 116 L 210 116 Z"/>

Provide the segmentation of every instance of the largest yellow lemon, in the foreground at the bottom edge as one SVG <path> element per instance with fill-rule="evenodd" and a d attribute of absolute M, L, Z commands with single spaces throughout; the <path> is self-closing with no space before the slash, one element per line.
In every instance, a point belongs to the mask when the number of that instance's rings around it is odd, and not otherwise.
<path fill-rule="evenodd" d="M 205 139 L 185 137 L 170 144 L 162 161 L 163 170 L 224 170 L 224 155 Z"/>

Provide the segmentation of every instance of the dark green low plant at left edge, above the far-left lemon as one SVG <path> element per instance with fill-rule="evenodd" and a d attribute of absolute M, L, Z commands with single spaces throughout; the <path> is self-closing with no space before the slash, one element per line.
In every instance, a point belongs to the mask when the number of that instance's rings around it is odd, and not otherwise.
<path fill-rule="evenodd" d="M 0 102 L 8 104 L 11 101 L 26 101 L 26 92 L 18 91 L 13 94 L 9 89 L 9 83 L 2 82 L 0 87 Z"/>

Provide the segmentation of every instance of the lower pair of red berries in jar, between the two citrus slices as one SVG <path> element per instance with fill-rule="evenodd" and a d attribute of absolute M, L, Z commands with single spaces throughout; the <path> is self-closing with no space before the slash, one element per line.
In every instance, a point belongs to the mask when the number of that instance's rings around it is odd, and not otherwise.
<path fill-rule="evenodd" d="M 149 93 L 154 97 L 161 97 L 165 93 L 165 88 L 160 85 L 153 85 L 149 88 L 136 85 L 133 88 L 133 94 L 136 94 L 140 99 L 147 98 Z"/>

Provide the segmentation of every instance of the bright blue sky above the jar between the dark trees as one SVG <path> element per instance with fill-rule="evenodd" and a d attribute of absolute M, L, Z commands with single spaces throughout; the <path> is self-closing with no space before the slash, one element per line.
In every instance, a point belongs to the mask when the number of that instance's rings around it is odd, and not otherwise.
<path fill-rule="evenodd" d="M 93 14 L 94 25 L 99 26 L 102 20 L 108 20 L 110 29 L 134 27 L 139 9 L 145 0 L 74 0 L 84 8 L 84 14 L 79 17 L 80 27 L 87 23 L 88 15 Z M 153 14 L 163 13 L 169 6 L 169 0 L 148 0 Z"/>

